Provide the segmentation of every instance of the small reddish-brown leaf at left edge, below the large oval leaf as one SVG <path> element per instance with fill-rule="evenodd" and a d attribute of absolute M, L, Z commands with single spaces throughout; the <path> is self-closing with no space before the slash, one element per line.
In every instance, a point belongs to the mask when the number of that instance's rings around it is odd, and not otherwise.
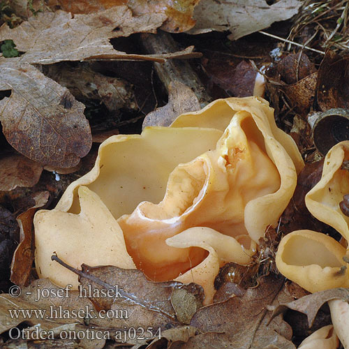
<path fill-rule="evenodd" d="M 17 186 L 35 186 L 41 172 L 43 172 L 43 166 L 20 154 L 1 158 L 0 191 L 12 191 Z"/>

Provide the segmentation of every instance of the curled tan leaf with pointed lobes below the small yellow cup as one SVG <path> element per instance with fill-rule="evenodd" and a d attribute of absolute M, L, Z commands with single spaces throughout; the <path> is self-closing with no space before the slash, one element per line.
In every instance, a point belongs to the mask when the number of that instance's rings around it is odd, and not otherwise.
<path fill-rule="evenodd" d="M 306 314 L 308 317 L 308 325 L 311 327 L 315 319 L 316 314 L 323 304 L 331 299 L 342 299 L 349 301 L 349 289 L 348 288 L 333 288 L 332 290 L 325 290 L 315 292 L 312 295 L 307 295 L 302 298 L 296 299 L 293 302 L 279 304 L 270 308 L 273 310 L 272 318 L 275 318 L 279 314 L 283 313 L 287 309 L 292 309 Z"/>

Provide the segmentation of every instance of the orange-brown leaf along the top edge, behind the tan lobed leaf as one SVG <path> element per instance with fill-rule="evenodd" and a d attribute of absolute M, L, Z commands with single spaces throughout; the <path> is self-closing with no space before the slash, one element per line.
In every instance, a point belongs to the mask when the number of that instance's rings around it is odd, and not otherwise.
<path fill-rule="evenodd" d="M 172 33 L 180 33 L 193 28 L 193 9 L 200 0 L 50 0 L 50 6 L 60 6 L 71 13 L 95 13 L 113 6 L 126 5 L 136 15 L 163 14 L 165 22 L 161 29 Z"/>

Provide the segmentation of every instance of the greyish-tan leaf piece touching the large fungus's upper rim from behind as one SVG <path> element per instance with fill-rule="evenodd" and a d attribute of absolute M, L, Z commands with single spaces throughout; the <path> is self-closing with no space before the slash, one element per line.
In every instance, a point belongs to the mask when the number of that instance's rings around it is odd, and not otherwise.
<path fill-rule="evenodd" d="M 200 110 L 198 97 L 185 84 L 174 81 L 170 83 L 169 89 L 168 104 L 147 114 L 143 121 L 143 128 L 147 126 L 170 126 L 179 115 Z"/>

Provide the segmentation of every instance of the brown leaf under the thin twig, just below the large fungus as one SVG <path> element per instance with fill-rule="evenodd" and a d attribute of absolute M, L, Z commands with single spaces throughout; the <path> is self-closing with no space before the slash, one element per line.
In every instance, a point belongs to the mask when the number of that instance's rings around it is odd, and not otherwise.
<path fill-rule="evenodd" d="M 133 327 L 165 329 L 169 325 L 179 325 L 179 318 L 190 320 L 193 313 L 202 305 L 203 291 L 195 284 L 184 286 L 174 281 L 154 283 L 148 281 L 140 270 L 112 266 L 82 265 L 82 273 L 80 283 L 86 292 L 91 289 L 115 290 L 115 287 L 120 290 L 117 293 L 119 297 L 91 297 L 91 300 L 98 309 L 126 312 L 127 323 Z M 88 276 L 92 276 L 92 279 Z M 175 291 L 177 288 L 184 288 L 186 292 Z M 173 295 L 173 292 L 177 294 Z M 179 303 L 186 304 L 187 309 L 183 309 Z M 188 313 L 189 309 L 191 313 Z M 94 321 L 91 320 L 91 323 L 95 323 Z M 125 325 L 125 319 L 112 319 L 112 322 L 97 319 L 96 325 L 107 324 L 122 327 Z"/>

